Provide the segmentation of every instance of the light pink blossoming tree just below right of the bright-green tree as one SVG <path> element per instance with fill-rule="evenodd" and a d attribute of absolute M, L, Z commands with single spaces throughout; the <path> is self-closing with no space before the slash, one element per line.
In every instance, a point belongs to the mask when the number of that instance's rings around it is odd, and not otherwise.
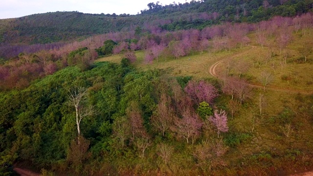
<path fill-rule="evenodd" d="M 221 132 L 228 132 L 227 114 L 225 110 L 214 110 L 214 115 L 210 116 L 210 121 L 217 129 L 217 134 L 220 136 Z"/>

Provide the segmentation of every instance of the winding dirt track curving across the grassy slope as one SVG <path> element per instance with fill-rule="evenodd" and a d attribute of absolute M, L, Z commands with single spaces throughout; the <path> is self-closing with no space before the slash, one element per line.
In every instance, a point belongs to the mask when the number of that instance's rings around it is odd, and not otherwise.
<path fill-rule="evenodd" d="M 232 59 L 234 57 L 237 57 L 237 56 L 240 56 L 240 55 L 244 55 L 246 53 L 248 53 L 251 49 L 254 49 L 256 48 L 256 46 L 251 46 L 250 49 L 248 49 L 247 51 L 245 52 L 241 52 L 241 53 L 238 53 L 238 54 L 235 54 L 235 55 L 232 55 L 232 56 L 229 56 L 229 57 L 224 57 L 223 59 L 219 60 L 218 62 L 214 63 L 210 69 L 209 69 L 209 73 L 215 77 L 215 78 L 219 78 L 219 79 L 224 79 L 222 76 L 219 76 L 217 73 L 216 73 L 216 68 L 225 60 L 227 59 Z M 248 86 L 252 87 L 252 88 L 264 88 L 263 86 L 257 86 L 257 85 L 252 85 L 252 84 L 248 84 Z M 286 89 L 280 89 L 280 88 L 266 88 L 268 90 L 274 90 L 274 91 L 281 91 L 281 92 L 290 92 L 290 93 L 301 93 L 301 94 L 307 94 L 307 95 L 313 95 L 313 92 L 303 92 L 303 91 L 296 91 L 296 90 L 286 90 Z"/>

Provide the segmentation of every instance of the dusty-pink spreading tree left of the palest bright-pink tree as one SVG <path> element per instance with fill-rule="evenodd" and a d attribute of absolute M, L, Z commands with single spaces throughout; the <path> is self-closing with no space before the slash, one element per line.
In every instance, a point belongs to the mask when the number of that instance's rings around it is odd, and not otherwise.
<path fill-rule="evenodd" d="M 200 129 L 202 127 L 202 122 L 198 115 L 191 111 L 186 111 L 182 114 L 182 119 L 176 118 L 175 129 L 178 136 L 187 140 L 189 143 L 189 138 L 194 144 L 194 140 L 200 135 Z"/>

